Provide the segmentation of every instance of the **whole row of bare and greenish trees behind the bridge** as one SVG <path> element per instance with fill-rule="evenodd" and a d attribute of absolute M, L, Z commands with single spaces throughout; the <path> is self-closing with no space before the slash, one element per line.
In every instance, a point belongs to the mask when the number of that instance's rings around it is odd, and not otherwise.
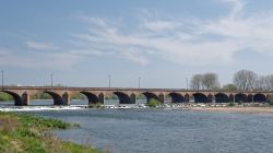
<path fill-rule="evenodd" d="M 221 86 L 216 73 L 194 74 L 191 78 L 192 90 L 226 90 L 226 91 L 271 91 L 273 90 L 273 74 L 259 75 L 250 70 L 239 70 L 234 73 L 233 83 Z"/>

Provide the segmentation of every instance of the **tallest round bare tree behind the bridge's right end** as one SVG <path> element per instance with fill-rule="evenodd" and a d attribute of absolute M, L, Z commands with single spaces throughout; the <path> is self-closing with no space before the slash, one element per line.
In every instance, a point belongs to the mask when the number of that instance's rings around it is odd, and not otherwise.
<path fill-rule="evenodd" d="M 250 70 L 239 70 L 234 74 L 234 84 L 238 90 L 250 91 L 256 86 L 258 75 Z"/>

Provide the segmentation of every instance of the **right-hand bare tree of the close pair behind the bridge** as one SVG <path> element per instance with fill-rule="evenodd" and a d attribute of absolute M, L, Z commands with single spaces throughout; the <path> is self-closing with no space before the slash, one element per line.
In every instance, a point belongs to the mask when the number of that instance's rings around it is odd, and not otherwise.
<path fill-rule="evenodd" d="M 213 90 L 219 86 L 218 75 L 216 73 L 205 73 L 202 76 L 202 85 L 204 90 Z"/>

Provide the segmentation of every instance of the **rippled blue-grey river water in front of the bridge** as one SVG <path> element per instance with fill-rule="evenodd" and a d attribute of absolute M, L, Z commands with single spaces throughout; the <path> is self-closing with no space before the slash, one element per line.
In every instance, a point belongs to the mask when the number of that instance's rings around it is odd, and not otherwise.
<path fill-rule="evenodd" d="M 27 113 L 80 123 L 55 133 L 114 153 L 273 152 L 273 115 L 169 108 Z"/>

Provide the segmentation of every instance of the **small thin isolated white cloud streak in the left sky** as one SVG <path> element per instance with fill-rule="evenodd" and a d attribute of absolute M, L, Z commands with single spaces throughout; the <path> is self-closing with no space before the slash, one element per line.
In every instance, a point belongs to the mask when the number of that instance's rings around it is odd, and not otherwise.
<path fill-rule="evenodd" d="M 58 49 L 52 44 L 37 43 L 34 40 L 28 40 L 25 44 L 28 48 L 35 49 L 35 50 L 56 50 L 56 49 Z"/>

